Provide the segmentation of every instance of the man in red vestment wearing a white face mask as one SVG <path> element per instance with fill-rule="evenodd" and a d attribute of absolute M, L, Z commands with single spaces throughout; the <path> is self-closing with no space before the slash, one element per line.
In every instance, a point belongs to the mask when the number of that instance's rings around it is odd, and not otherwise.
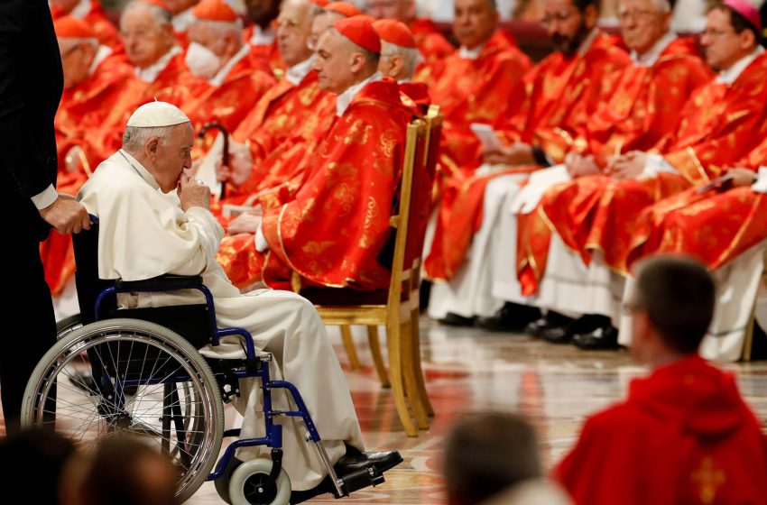
<path fill-rule="evenodd" d="M 199 118 L 197 123 L 216 121 L 234 131 L 273 86 L 272 69 L 265 60 L 250 57 L 250 45 L 242 38 L 242 20 L 225 0 L 202 0 L 192 14 L 185 61 L 211 87 L 188 107 Z"/>

